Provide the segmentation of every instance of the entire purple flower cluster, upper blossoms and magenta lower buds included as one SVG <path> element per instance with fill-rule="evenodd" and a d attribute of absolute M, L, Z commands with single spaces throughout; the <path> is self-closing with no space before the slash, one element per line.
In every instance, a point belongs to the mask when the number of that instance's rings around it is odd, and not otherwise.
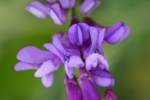
<path fill-rule="evenodd" d="M 64 18 L 64 14 L 61 11 L 73 8 L 75 0 L 60 0 L 61 6 L 55 2 L 49 0 L 44 6 L 35 1 L 28 6 L 28 11 L 41 18 L 50 15 L 54 22 L 62 24 L 60 19 Z M 89 14 L 97 5 L 99 0 L 84 0 L 81 11 Z M 50 12 L 46 9 L 50 9 Z M 110 73 L 103 45 L 118 44 L 127 39 L 130 28 L 123 22 L 105 27 L 88 17 L 80 22 L 74 16 L 71 22 L 66 34 L 55 33 L 52 42 L 44 44 L 46 50 L 34 46 L 22 48 L 17 54 L 19 63 L 16 64 L 15 70 L 36 70 L 34 76 L 41 78 L 43 85 L 48 88 L 53 84 L 55 71 L 64 65 L 68 100 L 101 100 L 97 86 L 106 88 L 106 100 L 117 100 L 111 89 L 115 79 Z"/>

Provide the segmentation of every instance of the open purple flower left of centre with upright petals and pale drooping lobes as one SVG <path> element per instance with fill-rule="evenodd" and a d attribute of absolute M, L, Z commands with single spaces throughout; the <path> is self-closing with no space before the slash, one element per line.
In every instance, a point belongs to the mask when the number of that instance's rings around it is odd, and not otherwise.
<path fill-rule="evenodd" d="M 81 68 L 84 66 L 84 63 L 80 58 L 79 51 L 72 48 L 67 48 L 60 33 L 57 33 L 53 37 L 52 44 L 46 43 L 44 46 L 61 59 L 64 63 L 66 74 L 70 79 L 74 78 L 75 67 Z"/>

